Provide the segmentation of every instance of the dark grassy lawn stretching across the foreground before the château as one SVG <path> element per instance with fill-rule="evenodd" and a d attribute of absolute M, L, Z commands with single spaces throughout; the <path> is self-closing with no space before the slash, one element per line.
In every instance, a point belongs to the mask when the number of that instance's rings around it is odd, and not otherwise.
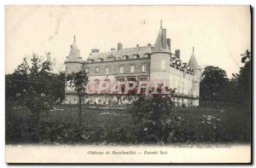
<path fill-rule="evenodd" d="M 7 143 L 139 143 L 130 113 L 125 110 L 82 109 L 82 126 L 78 125 L 78 108 L 56 106 L 32 125 L 26 108 L 6 106 Z M 182 122 L 174 129 L 172 142 L 250 142 L 251 118 L 247 109 L 175 108 Z M 80 136 L 79 136 L 80 135 Z"/>

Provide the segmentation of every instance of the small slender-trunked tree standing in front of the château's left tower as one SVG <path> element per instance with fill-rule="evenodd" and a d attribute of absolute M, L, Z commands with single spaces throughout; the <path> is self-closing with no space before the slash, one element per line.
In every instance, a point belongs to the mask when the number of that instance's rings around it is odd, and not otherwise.
<path fill-rule="evenodd" d="M 82 98 L 85 94 L 85 87 L 88 83 L 88 76 L 85 70 L 80 72 L 72 72 L 66 76 L 68 87 L 78 92 L 79 96 L 79 125 L 82 123 Z"/>

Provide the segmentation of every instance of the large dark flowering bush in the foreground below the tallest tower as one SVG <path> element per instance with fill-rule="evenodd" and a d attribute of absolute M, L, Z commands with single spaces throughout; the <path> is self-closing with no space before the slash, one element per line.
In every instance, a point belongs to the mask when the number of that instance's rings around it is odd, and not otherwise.
<path fill-rule="evenodd" d="M 131 111 L 138 127 L 138 141 L 145 143 L 166 142 L 181 123 L 181 117 L 172 113 L 172 96 L 155 94 L 138 96 L 131 104 Z M 169 138 L 170 139 L 170 138 Z"/>

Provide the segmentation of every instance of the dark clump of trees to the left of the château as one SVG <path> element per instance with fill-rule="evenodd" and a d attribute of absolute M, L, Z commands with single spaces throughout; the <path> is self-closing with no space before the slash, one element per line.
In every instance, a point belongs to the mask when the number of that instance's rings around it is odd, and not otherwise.
<path fill-rule="evenodd" d="M 27 56 L 13 74 L 5 77 L 6 101 L 17 101 L 16 94 L 23 94 L 24 90 L 36 91 L 39 95 L 54 96 L 55 100 L 64 99 L 65 74 L 51 72 L 54 61 L 50 55 L 45 57 L 33 54 Z M 60 101 L 61 101 L 60 100 Z"/>

